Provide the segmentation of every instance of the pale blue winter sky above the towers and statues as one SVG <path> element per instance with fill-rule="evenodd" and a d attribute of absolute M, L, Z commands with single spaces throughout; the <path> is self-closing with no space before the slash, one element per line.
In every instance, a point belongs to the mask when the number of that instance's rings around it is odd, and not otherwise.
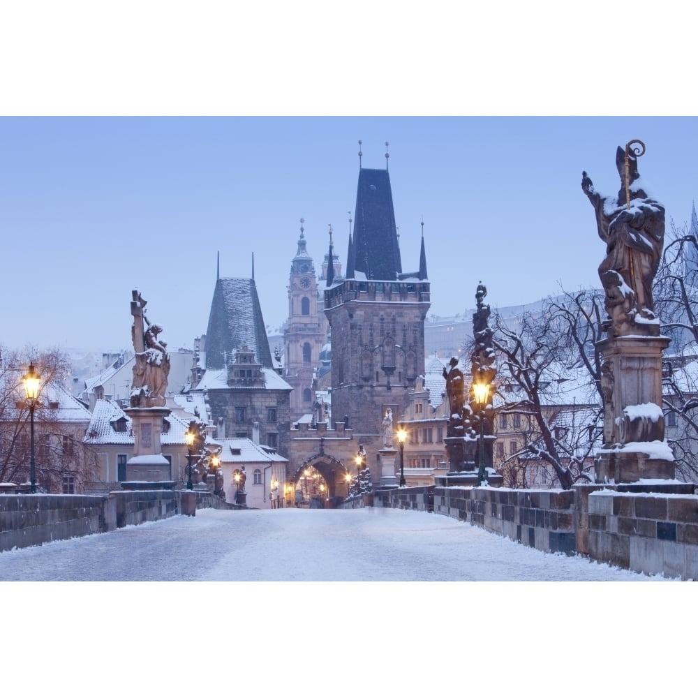
<path fill-rule="evenodd" d="M 534 302 L 597 284 L 604 253 L 581 192 L 587 170 L 618 191 L 617 145 L 639 138 L 639 170 L 690 218 L 694 117 L 82 117 L 0 119 L 0 344 L 130 346 L 131 288 L 170 348 L 206 332 L 216 278 L 249 276 L 265 321 L 287 315 L 299 218 L 317 265 L 332 223 L 346 262 L 363 166 L 389 171 L 403 269 L 420 222 L 431 312 Z"/>

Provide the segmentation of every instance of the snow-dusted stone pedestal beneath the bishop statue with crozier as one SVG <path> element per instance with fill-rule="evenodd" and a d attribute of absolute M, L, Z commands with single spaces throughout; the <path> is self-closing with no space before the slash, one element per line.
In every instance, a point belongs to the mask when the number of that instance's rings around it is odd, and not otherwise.
<path fill-rule="evenodd" d="M 672 480 L 674 456 L 664 440 L 663 336 L 611 336 L 603 355 L 604 445 L 595 458 L 596 482 Z"/>

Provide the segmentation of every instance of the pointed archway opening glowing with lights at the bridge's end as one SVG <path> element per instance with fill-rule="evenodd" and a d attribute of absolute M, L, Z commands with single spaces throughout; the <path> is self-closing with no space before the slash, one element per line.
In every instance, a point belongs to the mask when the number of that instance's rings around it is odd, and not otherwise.
<path fill-rule="evenodd" d="M 333 508 L 348 495 L 349 477 L 346 466 L 334 456 L 315 454 L 290 477 L 286 506 Z"/>

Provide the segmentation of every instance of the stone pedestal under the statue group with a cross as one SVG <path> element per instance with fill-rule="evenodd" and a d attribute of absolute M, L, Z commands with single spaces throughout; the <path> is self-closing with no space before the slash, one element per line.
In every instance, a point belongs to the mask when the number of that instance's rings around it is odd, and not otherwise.
<path fill-rule="evenodd" d="M 172 480 L 172 468 L 163 456 L 160 436 L 163 419 L 170 410 L 161 407 L 129 408 L 133 429 L 133 456 L 126 461 L 126 480 L 160 482 Z"/>

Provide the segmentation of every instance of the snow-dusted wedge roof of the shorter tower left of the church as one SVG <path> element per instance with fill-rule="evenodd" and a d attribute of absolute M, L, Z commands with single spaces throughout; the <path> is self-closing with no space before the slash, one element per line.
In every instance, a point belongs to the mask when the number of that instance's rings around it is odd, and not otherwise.
<path fill-rule="evenodd" d="M 225 357 L 248 346 L 267 369 L 274 368 L 254 279 L 216 279 L 206 331 L 206 368 L 223 369 Z"/>

